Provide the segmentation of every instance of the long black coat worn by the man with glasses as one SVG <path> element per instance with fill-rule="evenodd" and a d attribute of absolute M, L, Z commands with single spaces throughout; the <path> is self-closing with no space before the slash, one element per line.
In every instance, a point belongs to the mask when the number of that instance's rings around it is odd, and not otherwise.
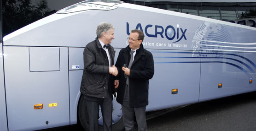
<path fill-rule="evenodd" d="M 121 49 L 116 60 L 116 67 L 118 69 L 117 79 L 120 80 L 117 88 L 117 102 L 122 104 L 124 90 L 126 86 L 126 78 L 124 71 L 122 71 L 123 64 L 129 62 L 131 49 L 129 45 Z M 154 75 L 154 60 L 151 52 L 143 48 L 140 44 L 140 49 L 136 50 L 133 65 L 130 69 L 129 76 L 129 94 L 130 94 L 130 108 L 142 107 L 148 105 L 148 85 L 149 79 Z"/>

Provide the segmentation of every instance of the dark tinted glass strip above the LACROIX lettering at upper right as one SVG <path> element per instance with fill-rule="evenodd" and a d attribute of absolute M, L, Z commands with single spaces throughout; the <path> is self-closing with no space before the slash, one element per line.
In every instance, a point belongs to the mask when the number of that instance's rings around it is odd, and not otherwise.
<path fill-rule="evenodd" d="M 239 0 L 229 0 L 228 2 L 215 2 L 215 0 L 122 1 L 256 27 L 256 0 L 251 0 L 253 2 Z"/>

